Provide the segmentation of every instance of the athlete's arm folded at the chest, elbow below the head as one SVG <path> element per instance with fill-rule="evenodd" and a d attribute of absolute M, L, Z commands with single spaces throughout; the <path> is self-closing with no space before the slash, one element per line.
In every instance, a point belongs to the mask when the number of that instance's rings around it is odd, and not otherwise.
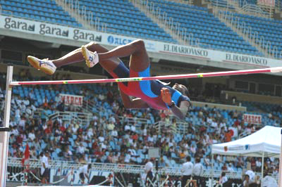
<path fill-rule="evenodd" d="M 168 106 L 173 104 L 171 101 L 171 93 L 169 92 L 168 89 L 166 88 L 161 89 L 161 98 L 164 101 L 164 103 L 168 104 Z M 171 111 L 180 120 L 184 120 L 184 117 L 188 112 L 189 105 L 190 103 L 188 101 L 181 101 L 180 106 L 178 107 L 177 105 L 173 105 L 173 107 L 171 107 Z"/>

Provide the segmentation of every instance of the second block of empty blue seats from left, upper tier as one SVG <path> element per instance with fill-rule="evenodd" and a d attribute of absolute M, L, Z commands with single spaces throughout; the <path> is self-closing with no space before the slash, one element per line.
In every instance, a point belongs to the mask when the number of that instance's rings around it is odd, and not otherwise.
<path fill-rule="evenodd" d="M 56 1 L 59 2 L 61 0 Z M 73 1 L 73 4 L 75 4 L 75 1 Z M 75 5 L 75 7 L 78 6 Z M 95 25 L 95 22 L 99 20 L 101 24 L 99 24 L 99 27 L 95 27 L 95 30 L 98 28 L 99 31 L 113 34 L 177 43 L 162 28 L 158 27 L 155 22 L 135 8 L 130 1 L 81 0 L 78 9 L 78 11 L 75 11 L 78 15 L 73 16 L 79 22 L 83 20 L 80 18 L 86 17 L 91 26 Z M 68 9 L 68 11 L 72 10 Z"/>

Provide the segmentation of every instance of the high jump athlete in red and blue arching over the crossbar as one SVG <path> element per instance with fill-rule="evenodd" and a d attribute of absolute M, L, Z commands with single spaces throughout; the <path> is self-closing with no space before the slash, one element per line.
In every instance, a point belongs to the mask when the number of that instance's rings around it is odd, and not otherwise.
<path fill-rule="evenodd" d="M 119 59 L 130 56 L 129 70 Z M 138 39 L 124 46 L 109 51 L 103 46 L 90 42 L 56 60 L 40 60 L 34 56 L 27 57 L 28 62 L 48 75 L 54 74 L 57 67 L 86 61 L 88 67 L 100 63 L 114 78 L 149 77 L 149 56 L 144 41 Z M 184 119 L 190 106 L 188 89 L 182 84 L 167 86 L 158 80 L 141 82 L 118 82 L 118 87 L 125 108 L 170 109 L 176 117 Z M 135 98 L 130 98 L 134 96 Z"/>

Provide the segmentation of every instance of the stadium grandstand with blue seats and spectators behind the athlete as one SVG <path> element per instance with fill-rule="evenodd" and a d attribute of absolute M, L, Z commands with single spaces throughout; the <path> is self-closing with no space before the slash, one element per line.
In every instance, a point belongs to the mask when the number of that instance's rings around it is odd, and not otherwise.
<path fill-rule="evenodd" d="M 244 154 L 252 150 L 249 142 L 233 154 L 232 146 L 222 154 L 213 146 L 264 127 L 281 131 L 282 73 L 200 75 L 281 67 L 281 32 L 281 0 L 0 0 L 0 127 L 10 131 L 0 187 L 243 186 L 246 172 L 254 173 L 253 185 L 278 186 L 280 146 L 255 156 Z M 27 56 L 57 59 L 90 42 L 110 50 L 136 39 L 145 43 L 152 76 L 200 74 L 164 80 L 188 87 L 192 104 L 184 120 L 171 110 L 126 109 L 116 83 L 6 87 L 10 66 L 13 82 L 111 79 L 101 65 L 85 61 L 46 75 Z M 129 66 L 129 57 L 121 60 Z M 193 165 L 200 160 L 203 172 L 186 185 L 188 156 Z M 85 165 L 91 168 L 83 184 Z"/>

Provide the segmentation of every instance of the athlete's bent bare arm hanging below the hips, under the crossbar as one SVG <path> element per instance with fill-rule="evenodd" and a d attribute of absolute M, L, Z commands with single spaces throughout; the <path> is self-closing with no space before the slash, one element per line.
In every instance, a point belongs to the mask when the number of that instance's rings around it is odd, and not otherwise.
<path fill-rule="evenodd" d="M 142 101 L 141 98 L 131 99 L 128 95 L 126 95 L 121 89 L 119 89 L 121 93 L 121 98 L 123 99 L 123 105 L 125 108 L 149 108 L 149 105 Z"/>

